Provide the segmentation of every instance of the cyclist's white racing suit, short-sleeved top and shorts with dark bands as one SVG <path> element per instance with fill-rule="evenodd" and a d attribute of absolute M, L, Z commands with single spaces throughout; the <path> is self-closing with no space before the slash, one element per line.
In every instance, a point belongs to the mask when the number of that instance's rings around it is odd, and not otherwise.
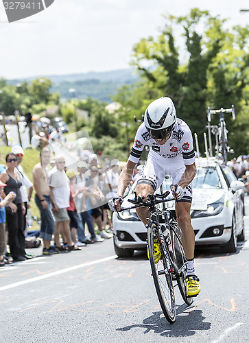
<path fill-rule="evenodd" d="M 145 145 L 150 146 L 150 152 L 139 183 L 147 182 L 154 190 L 160 187 L 166 175 L 172 176 L 174 184 L 178 183 L 185 171 L 185 165 L 192 165 L 195 162 L 192 133 L 187 123 L 181 119 L 176 119 L 171 135 L 163 145 L 159 145 L 150 137 L 145 124 L 142 123 L 137 130 L 129 160 L 137 163 Z M 191 202 L 191 193 L 190 184 L 185 189 L 185 198 L 182 201 Z"/>

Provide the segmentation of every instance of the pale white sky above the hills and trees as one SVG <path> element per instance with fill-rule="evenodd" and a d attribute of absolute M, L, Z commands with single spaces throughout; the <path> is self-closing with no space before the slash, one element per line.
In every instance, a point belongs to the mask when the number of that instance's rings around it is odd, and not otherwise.
<path fill-rule="evenodd" d="M 230 26 L 249 23 L 249 12 L 239 12 L 249 10 L 248 0 L 54 0 L 14 23 L 0 1 L 0 77 L 127 69 L 132 47 L 159 34 L 163 14 L 183 16 L 191 8 L 229 19 Z"/>

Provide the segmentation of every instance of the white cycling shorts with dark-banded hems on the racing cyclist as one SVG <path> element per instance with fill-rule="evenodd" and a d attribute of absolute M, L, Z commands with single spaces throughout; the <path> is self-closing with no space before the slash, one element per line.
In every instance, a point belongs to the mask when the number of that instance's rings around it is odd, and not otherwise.
<path fill-rule="evenodd" d="M 176 185 L 182 174 L 185 172 L 185 167 L 176 170 L 170 170 L 167 165 L 162 165 L 161 161 L 158 161 L 152 157 L 148 158 L 141 172 L 141 175 L 137 179 L 137 185 L 147 184 L 152 186 L 154 191 L 158 189 L 165 176 L 170 175 L 172 178 L 172 185 Z M 187 185 L 184 191 L 184 196 L 178 200 L 179 202 L 192 202 L 192 183 Z"/>

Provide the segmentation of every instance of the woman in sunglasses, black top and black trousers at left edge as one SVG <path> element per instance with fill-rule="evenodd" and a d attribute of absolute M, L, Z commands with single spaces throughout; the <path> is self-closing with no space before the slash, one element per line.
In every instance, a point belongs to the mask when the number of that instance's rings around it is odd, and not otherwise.
<path fill-rule="evenodd" d="M 1 182 L 5 183 L 4 193 L 14 191 L 16 198 L 13 200 L 16 204 L 16 211 L 13 212 L 9 207 L 6 207 L 6 223 L 8 228 L 8 242 L 10 246 L 10 254 L 14 262 L 25 261 L 25 235 L 23 227 L 23 215 L 25 206 L 21 197 L 20 187 L 22 185 L 19 179 L 19 174 L 16 172 L 16 154 L 9 152 L 5 158 L 7 168 L 0 174 Z"/>

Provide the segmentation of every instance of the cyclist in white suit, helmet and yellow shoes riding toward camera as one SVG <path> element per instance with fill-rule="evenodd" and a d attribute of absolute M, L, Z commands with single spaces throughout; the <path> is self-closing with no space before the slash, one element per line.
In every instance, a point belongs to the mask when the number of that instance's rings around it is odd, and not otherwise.
<path fill-rule="evenodd" d="M 145 110 L 144 122 L 137 130 L 128 162 L 119 176 L 117 196 L 110 200 L 112 211 L 120 211 L 123 193 L 132 180 L 145 145 L 150 146 L 145 167 L 137 181 L 137 195 L 147 197 L 161 186 L 166 175 L 171 175 L 171 191 L 176 202 L 176 217 L 182 230 L 182 246 L 187 258 L 187 295 L 196 296 L 200 283 L 195 275 L 195 235 L 191 226 L 191 181 L 196 174 L 193 137 L 189 126 L 176 117 L 176 108 L 169 97 L 154 100 Z M 137 209 L 143 224 L 147 224 L 147 209 Z M 156 252 L 155 252 L 156 254 Z"/>

